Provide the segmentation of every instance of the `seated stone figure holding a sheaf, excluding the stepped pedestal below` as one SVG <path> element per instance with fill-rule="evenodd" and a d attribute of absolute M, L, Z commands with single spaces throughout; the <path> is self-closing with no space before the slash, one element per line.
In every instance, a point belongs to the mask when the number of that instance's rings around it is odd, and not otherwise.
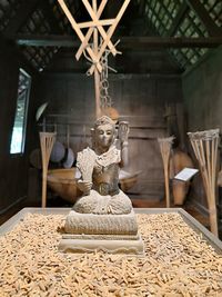
<path fill-rule="evenodd" d="M 99 118 L 92 129 L 93 148 L 78 154 L 78 181 L 83 192 L 73 210 L 81 214 L 124 215 L 132 210 L 131 200 L 119 189 L 119 168 L 127 161 L 129 127 L 120 123 L 119 139 L 115 125 L 107 116 Z"/>

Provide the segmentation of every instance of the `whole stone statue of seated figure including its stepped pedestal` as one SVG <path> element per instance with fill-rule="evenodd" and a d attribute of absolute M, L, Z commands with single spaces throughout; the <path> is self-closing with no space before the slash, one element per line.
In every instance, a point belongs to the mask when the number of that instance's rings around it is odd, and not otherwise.
<path fill-rule="evenodd" d="M 143 255 L 131 200 L 118 187 L 119 168 L 128 161 L 127 122 L 101 117 L 92 129 L 92 148 L 78 154 L 81 172 L 78 185 L 83 196 L 65 218 L 61 251 Z"/>

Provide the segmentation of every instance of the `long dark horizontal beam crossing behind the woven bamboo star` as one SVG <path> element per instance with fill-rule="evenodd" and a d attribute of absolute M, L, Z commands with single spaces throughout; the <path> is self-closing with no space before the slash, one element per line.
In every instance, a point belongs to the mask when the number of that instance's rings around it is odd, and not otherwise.
<path fill-rule="evenodd" d="M 17 34 L 10 38 L 19 46 L 78 48 L 79 39 L 71 36 Z M 215 48 L 222 44 L 222 37 L 122 37 L 119 48 L 147 50 L 149 48 Z"/>

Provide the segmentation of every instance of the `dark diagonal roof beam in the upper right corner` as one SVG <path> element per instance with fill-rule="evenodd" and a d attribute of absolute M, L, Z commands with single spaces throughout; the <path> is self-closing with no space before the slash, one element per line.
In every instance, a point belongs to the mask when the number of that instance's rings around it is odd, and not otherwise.
<path fill-rule="evenodd" d="M 210 36 L 222 36 L 222 29 L 211 19 L 204 6 L 196 0 L 185 0 L 188 4 L 195 11 L 202 23 L 205 26 Z"/>

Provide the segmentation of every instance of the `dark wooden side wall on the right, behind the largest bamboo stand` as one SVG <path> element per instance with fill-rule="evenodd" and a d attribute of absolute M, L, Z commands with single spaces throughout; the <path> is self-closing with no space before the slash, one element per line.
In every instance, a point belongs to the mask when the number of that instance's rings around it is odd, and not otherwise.
<path fill-rule="evenodd" d="M 212 52 L 182 78 L 189 131 L 222 131 L 222 48 Z M 206 200 L 200 176 L 194 180 L 193 202 L 203 211 Z"/>

